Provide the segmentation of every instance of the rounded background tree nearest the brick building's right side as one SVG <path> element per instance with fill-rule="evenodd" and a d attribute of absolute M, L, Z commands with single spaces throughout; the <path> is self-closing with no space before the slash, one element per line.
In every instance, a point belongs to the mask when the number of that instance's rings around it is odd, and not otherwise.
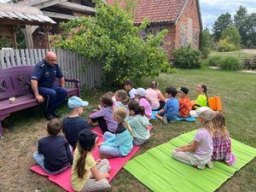
<path fill-rule="evenodd" d="M 232 25 L 232 18 L 229 13 L 218 16 L 218 19 L 212 26 L 212 32 L 216 42 L 218 42 L 218 40 L 221 38 L 224 29 L 230 25 Z"/>

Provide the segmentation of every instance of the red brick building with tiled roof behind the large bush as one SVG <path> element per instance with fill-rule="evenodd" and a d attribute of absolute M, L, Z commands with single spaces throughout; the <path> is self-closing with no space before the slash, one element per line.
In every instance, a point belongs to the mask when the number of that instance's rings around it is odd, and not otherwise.
<path fill-rule="evenodd" d="M 113 0 L 107 1 L 113 4 Z M 121 6 L 125 3 L 119 1 Z M 167 29 L 163 42 L 166 55 L 171 58 L 173 49 L 191 44 L 199 48 L 202 29 L 199 0 L 137 0 L 134 23 L 139 25 L 148 18 L 150 26 L 141 36 Z"/>

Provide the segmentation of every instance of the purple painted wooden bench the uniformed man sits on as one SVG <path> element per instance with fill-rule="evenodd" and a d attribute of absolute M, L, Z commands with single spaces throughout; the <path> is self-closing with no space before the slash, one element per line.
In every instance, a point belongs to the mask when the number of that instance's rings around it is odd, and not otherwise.
<path fill-rule="evenodd" d="M 29 91 L 27 84 L 33 70 L 32 66 L 0 69 L 0 137 L 3 136 L 1 122 L 10 113 L 40 104 Z M 66 82 L 74 85 L 73 88 L 67 88 L 67 96 L 80 96 L 79 79 L 66 79 Z M 59 80 L 55 84 L 59 84 Z M 15 96 L 15 103 L 9 102 L 11 96 Z"/>

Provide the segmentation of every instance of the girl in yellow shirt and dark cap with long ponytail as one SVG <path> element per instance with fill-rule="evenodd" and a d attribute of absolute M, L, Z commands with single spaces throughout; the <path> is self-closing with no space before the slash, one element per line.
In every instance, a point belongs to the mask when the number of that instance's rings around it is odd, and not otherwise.
<path fill-rule="evenodd" d="M 97 135 L 90 130 L 79 133 L 79 143 L 74 151 L 71 173 L 72 188 L 75 191 L 99 191 L 110 189 L 108 183 L 108 160 L 94 160 L 92 151 L 96 147 Z"/>

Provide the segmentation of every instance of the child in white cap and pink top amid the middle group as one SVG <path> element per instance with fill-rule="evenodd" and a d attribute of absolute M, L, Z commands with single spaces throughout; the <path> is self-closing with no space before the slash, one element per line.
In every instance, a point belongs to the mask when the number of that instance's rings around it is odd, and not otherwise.
<path fill-rule="evenodd" d="M 143 88 L 138 88 L 137 90 L 135 90 L 134 94 L 137 97 L 138 102 L 140 103 L 140 106 L 143 106 L 145 108 L 145 116 L 148 119 L 151 119 L 152 109 L 151 109 L 150 101 L 147 98 L 146 90 L 144 90 Z"/>

